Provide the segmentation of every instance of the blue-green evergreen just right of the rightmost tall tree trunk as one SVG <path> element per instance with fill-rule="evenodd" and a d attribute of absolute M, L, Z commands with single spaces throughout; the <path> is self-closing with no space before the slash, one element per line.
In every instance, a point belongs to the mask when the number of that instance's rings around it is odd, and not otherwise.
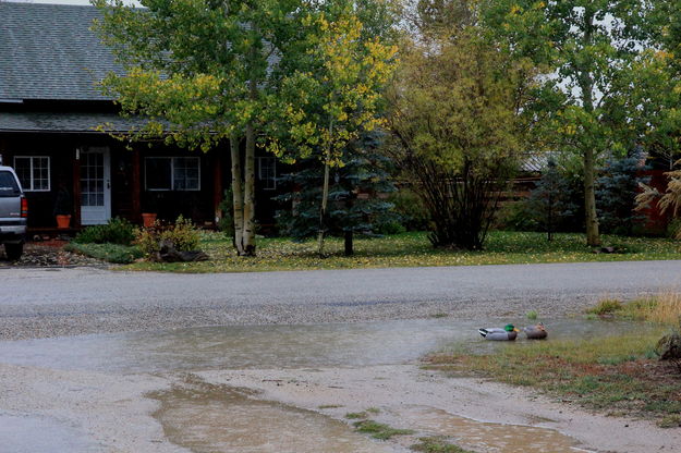
<path fill-rule="evenodd" d="M 636 221 L 645 218 L 634 210 L 640 183 L 650 180 L 641 174 L 645 169 L 637 154 L 607 162 L 597 181 L 596 199 L 600 224 L 608 233 L 631 235 Z"/>

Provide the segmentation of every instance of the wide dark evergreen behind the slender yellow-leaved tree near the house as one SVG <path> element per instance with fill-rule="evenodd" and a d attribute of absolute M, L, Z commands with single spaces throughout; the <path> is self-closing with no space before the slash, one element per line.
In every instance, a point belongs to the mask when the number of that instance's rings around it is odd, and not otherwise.
<path fill-rule="evenodd" d="M 332 169 L 325 234 L 343 236 L 346 256 L 353 254 L 355 233 L 375 234 L 397 217 L 384 198 L 396 187 L 389 179 L 390 161 L 377 151 L 380 142 L 378 132 L 363 134 L 343 150 L 344 164 Z M 301 161 L 299 168 L 282 179 L 291 192 L 277 199 L 291 207 L 278 212 L 277 220 L 284 234 L 303 240 L 319 233 L 325 169 L 316 157 Z"/>

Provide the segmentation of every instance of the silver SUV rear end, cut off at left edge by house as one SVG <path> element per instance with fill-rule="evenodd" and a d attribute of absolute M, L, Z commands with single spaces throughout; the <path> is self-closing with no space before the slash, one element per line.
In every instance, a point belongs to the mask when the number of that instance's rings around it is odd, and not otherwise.
<path fill-rule="evenodd" d="M 26 241 L 28 204 L 16 173 L 0 166 L 0 244 L 9 259 L 21 258 Z"/>

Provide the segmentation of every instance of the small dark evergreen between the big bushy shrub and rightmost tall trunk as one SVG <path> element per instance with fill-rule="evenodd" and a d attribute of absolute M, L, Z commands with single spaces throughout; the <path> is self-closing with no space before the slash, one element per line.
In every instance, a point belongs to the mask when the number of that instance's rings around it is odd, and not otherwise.
<path fill-rule="evenodd" d="M 546 171 L 536 187 L 531 192 L 527 205 L 537 222 L 551 241 L 566 219 L 574 216 L 579 209 L 571 197 L 570 181 L 560 172 L 556 162 L 548 161 Z"/>

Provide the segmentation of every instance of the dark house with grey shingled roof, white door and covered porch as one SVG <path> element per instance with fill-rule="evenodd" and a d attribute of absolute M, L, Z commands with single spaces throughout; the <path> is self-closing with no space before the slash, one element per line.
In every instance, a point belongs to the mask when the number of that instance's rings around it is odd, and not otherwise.
<path fill-rule="evenodd" d="M 215 225 L 230 182 L 228 144 L 204 154 L 96 131 L 141 121 L 119 117 L 97 89 L 107 73 L 122 72 L 89 30 L 98 15 L 93 7 L 0 2 L 0 155 L 26 192 L 29 229 L 54 229 L 64 206 L 73 230 L 112 217 L 137 223 L 143 212 Z M 257 157 L 262 224 L 272 223 L 277 163 Z"/>

